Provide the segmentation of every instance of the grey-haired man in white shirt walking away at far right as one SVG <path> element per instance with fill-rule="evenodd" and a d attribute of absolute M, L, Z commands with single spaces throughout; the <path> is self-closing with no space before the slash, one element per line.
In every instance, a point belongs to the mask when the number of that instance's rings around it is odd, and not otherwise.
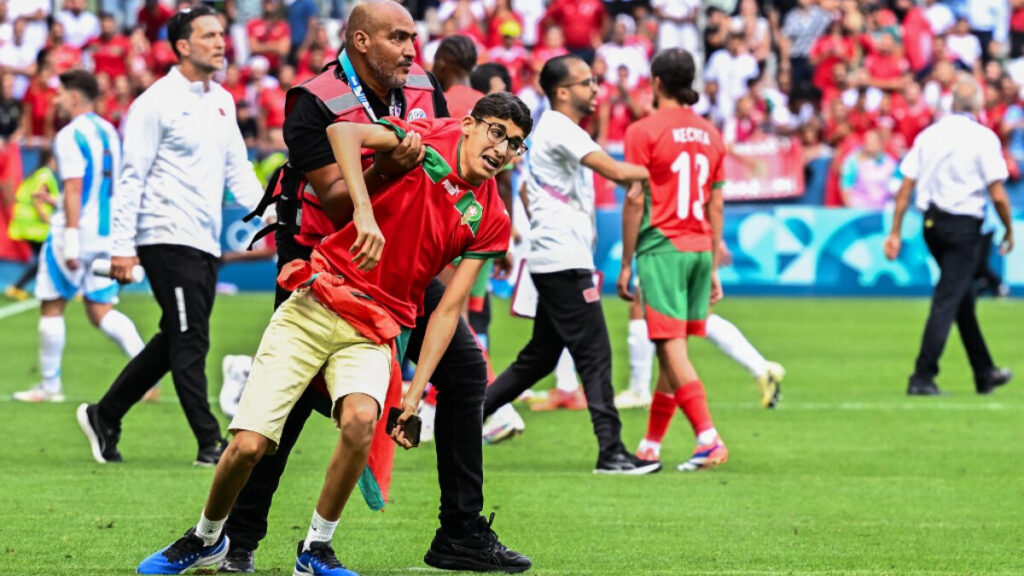
<path fill-rule="evenodd" d="M 978 85 L 972 80 L 959 81 L 953 87 L 953 114 L 922 132 L 900 164 L 904 179 L 896 198 L 892 232 L 885 242 L 886 256 L 895 259 L 899 255 L 903 214 L 916 187 L 916 205 L 925 216 L 925 242 L 940 270 L 907 386 L 910 396 L 942 394 L 935 376 L 953 320 L 967 348 L 978 394 L 991 393 L 1012 376 L 1009 369 L 996 368 L 988 353 L 971 286 L 982 252 L 980 230 L 986 191 L 1007 231 L 999 252 L 1006 254 L 1014 247 L 1010 200 L 1002 187 L 1007 165 L 998 136 L 978 123 L 980 109 Z"/>

